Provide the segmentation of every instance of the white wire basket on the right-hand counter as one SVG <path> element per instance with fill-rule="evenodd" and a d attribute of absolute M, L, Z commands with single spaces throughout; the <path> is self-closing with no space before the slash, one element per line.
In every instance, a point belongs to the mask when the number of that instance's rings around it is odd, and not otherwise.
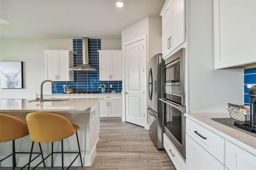
<path fill-rule="evenodd" d="M 230 117 L 237 121 L 250 121 L 250 106 L 241 106 L 228 103 L 228 113 Z"/>

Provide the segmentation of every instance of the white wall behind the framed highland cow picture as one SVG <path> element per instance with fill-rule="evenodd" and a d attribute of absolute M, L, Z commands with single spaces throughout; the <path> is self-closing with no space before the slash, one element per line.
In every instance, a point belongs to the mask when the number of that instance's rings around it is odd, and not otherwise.
<path fill-rule="evenodd" d="M 0 40 L 0 61 L 23 61 L 23 89 L 0 89 L 0 99 L 32 99 L 40 94 L 45 80 L 44 49 L 73 50 L 72 39 Z M 2 81 L 2 80 L 1 80 Z M 44 93 L 52 93 L 51 83 L 44 84 Z"/>

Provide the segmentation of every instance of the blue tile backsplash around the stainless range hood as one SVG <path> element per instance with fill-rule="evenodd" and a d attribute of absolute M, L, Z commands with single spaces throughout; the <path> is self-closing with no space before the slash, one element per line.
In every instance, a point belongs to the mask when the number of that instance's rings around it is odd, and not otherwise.
<path fill-rule="evenodd" d="M 89 64 L 96 69 L 99 69 L 99 53 L 97 51 L 98 49 L 101 49 L 101 40 L 89 40 Z M 76 52 L 76 54 L 74 54 L 75 67 L 83 63 L 82 39 L 73 39 L 73 51 Z M 72 87 L 74 91 L 101 92 L 101 89 L 98 88 L 101 83 L 105 83 L 107 85 L 106 93 L 110 93 L 111 91 L 122 91 L 122 81 L 99 81 L 99 72 L 74 71 L 74 81 L 56 81 L 54 83 L 56 84 L 57 91 L 54 91 L 52 86 L 52 94 L 63 93 L 63 85 Z M 112 88 L 110 88 L 110 84 L 112 84 Z"/>

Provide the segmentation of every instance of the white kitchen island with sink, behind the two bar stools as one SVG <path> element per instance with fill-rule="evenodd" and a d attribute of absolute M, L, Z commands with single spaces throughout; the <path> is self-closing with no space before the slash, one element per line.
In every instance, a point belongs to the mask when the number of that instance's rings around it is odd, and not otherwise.
<path fill-rule="evenodd" d="M 80 127 L 78 138 L 84 166 L 91 166 L 96 155 L 96 143 L 100 132 L 99 102 L 101 98 L 90 99 L 67 99 L 66 101 L 33 101 L 31 99 L 1 99 L 0 113 L 12 115 L 26 123 L 26 115 L 31 112 L 50 112 L 66 117 L 72 124 Z M 15 140 L 16 152 L 30 152 L 32 141 L 29 135 Z M 51 143 L 42 143 L 44 155 L 51 151 Z M 54 150 L 61 150 L 60 142 L 54 142 Z M 12 142 L 0 143 L 0 156 L 3 158 L 10 154 Z M 76 136 L 64 139 L 64 151 L 77 151 Z M 39 152 L 39 146 L 35 143 L 34 152 Z M 0 158 L 0 159 L 1 159 Z M 17 154 L 17 166 L 24 166 L 28 162 L 29 154 Z M 68 166 L 75 158 L 73 154 L 64 154 L 64 166 Z M 35 166 L 42 159 L 37 158 L 31 166 Z M 12 158 L 2 161 L 0 166 L 12 166 Z M 40 166 L 43 166 L 40 164 Z M 51 159 L 46 159 L 46 166 L 51 166 Z M 54 165 L 61 166 L 61 154 L 54 154 Z M 80 160 L 72 166 L 81 166 Z"/>

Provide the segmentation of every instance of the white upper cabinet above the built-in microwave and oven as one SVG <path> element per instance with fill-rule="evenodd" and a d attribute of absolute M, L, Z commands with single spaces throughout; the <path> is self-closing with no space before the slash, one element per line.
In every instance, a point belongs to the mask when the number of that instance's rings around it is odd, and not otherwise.
<path fill-rule="evenodd" d="M 162 55 L 168 56 L 185 42 L 185 0 L 166 0 L 160 13 L 162 16 Z"/>

